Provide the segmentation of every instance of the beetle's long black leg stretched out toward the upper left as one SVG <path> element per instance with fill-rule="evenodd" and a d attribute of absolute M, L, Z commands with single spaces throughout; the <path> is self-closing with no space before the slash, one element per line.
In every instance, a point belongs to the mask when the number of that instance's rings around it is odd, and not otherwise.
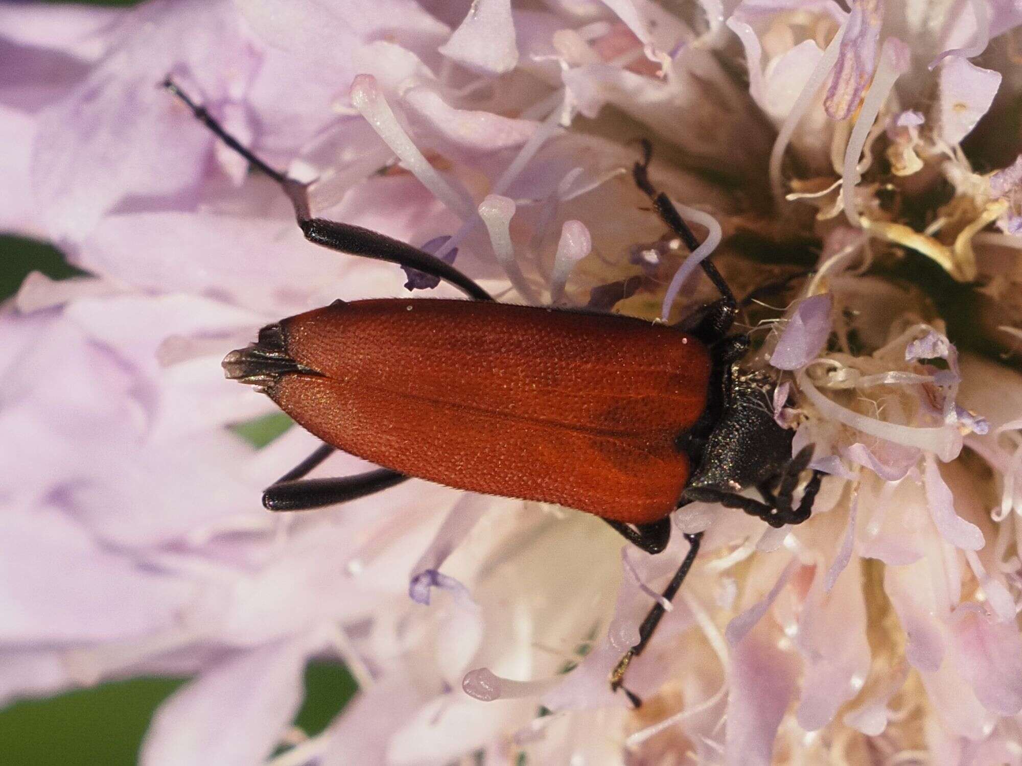
<path fill-rule="evenodd" d="M 180 101 L 191 109 L 202 125 L 213 131 L 227 146 L 247 159 L 263 173 L 276 181 L 284 190 L 294 207 L 294 217 L 301 228 L 306 239 L 331 250 L 346 252 L 352 255 L 363 255 L 377 260 L 386 260 L 399 266 L 417 269 L 420 272 L 449 282 L 476 300 L 492 300 L 485 290 L 466 277 L 450 264 L 432 253 L 420 250 L 406 242 L 384 236 L 378 232 L 364 229 L 361 226 L 341 224 L 335 221 L 313 218 L 309 210 L 309 199 L 306 184 L 288 178 L 285 174 L 271 167 L 263 161 L 251 149 L 245 147 L 234 136 L 228 133 L 218 123 L 204 106 L 195 103 L 171 78 L 167 78 L 162 86 L 173 93 Z"/>

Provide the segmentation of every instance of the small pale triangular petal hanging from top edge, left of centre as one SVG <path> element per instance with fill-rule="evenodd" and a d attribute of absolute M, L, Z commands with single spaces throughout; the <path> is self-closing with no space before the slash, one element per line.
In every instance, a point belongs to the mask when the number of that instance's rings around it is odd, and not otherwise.
<path fill-rule="evenodd" d="M 511 71 L 518 64 L 511 0 L 475 0 L 464 20 L 438 50 L 484 75 Z"/>

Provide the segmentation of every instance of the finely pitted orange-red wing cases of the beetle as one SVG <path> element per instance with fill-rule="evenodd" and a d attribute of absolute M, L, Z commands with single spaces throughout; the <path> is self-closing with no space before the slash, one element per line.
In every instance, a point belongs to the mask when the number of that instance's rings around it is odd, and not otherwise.
<path fill-rule="evenodd" d="M 308 372 L 266 393 L 380 466 L 631 524 L 666 517 L 688 481 L 677 439 L 705 412 L 712 363 L 673 328 L 434 299 L 338 301 L 280 328 Z M 244 354 L 228 363 L 242 379 Z"/>

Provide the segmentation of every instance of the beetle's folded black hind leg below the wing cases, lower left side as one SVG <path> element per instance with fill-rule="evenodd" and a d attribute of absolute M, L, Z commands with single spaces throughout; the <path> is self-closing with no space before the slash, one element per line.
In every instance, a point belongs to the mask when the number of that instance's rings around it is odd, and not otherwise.
<path fill-rule="evenodd" d="M 379 468 L 374 471 L 329 479 L 306 479 L 314 468 L 333 454 L 334 447 L 321 444 L 263 492 L 263 507 L 268 511 L 313 511 L 355 500 L 408 479 L 404 474 Z"/>

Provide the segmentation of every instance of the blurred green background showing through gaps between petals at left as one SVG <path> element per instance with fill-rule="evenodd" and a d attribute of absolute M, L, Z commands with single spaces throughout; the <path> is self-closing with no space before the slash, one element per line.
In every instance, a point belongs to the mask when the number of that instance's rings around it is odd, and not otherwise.
<path fill-rule="evenodd" d="M 92 5 L 134 5 L 132 0 Z M 43 242 L 0 236 L 0 300 L 16 292 L 25 277 L 39 271 L 53 279 L 81 274 Z M 281 432 L 278 419 L 238 429 L 264 444 Z M 135 678 L 77 689 L 43 700 L 24 700 L 0 710 L 0 764 L 18 766 L 132 766 L 153 712 L 187 678 Z M 343 666 L 313 663 L 306 670 L 306 702 L 295 725 L 322 731 L 356 691 Z M 182 766 L 200 766 L 182 764 Z"/>

